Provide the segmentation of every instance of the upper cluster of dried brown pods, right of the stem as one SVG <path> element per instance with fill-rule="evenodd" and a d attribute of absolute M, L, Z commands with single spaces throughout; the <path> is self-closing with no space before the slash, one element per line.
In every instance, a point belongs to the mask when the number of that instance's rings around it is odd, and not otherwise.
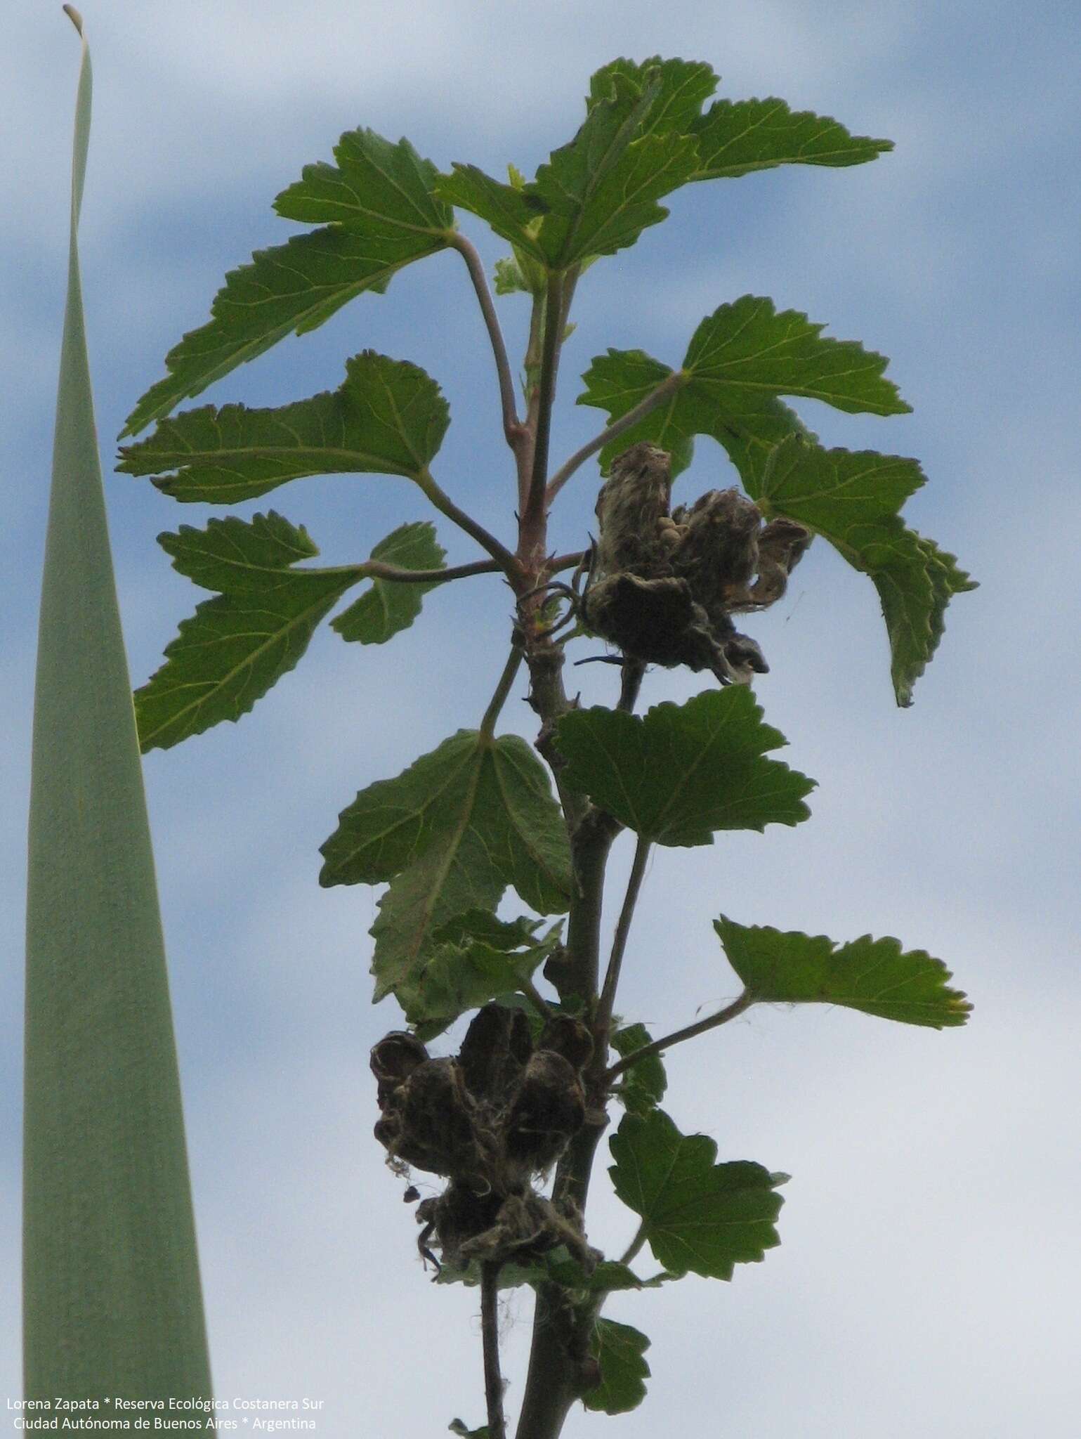
<path fill-rule="evenodd" d="M 665 450 L 641 443 L 613 460 L 597 498 L 582 619 L 628 659 L 746 684 L 769 665 L 731 616 L 782 597 L 810 532 L 792 519 L 763 525 L 738 489 L 710 489 L 674 511 L 671 496 Z"/>

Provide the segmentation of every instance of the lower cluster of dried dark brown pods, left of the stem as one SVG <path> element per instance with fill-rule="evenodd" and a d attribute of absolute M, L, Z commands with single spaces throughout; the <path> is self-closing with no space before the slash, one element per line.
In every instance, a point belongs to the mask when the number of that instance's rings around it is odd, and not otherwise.
<path fill-rule="evenodd" d="M 551 1014 L 533 1039 L 525 1014 L 485 1004 L 456 1056 L 432 1059 L 416 1035 L 393 1032 L 371 1050 L 390 1163 L 449 1180 L 417 1204 L 419 1248 L 436 1266 L 525 1262 L 557 1245 L 592 1268 L 596 1253 L 573 1204 L 534 1189 L 586 1121 L 586 1026 Z M 417 1197 L 415 1190 L 407 1197 Z"/>

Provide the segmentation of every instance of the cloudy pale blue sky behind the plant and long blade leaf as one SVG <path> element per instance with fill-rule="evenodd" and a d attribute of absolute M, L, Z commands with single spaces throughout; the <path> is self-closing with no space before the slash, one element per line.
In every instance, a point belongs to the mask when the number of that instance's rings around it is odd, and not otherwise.
<path fill-rule="evenodd" d="M 789 1171 L 782 1246 L 731 1284 L 618 1297 L 652 1347 L 646 1402 L 564 1433 L 625 1439 L 678 1416 L 740 1439 L 1072 1439 L 1081 1183 L 1077 1091 L 1078 656 L 1074 555 L 1078 220 L 1069 4 L 733 0 L 114 0 L 83 10 L 95 121 L 81 230 L 86 322 L 131 672 L 157 668 L 204 591 L 154 538 L 204 524 L 111 473 L 112 436 L 202 324 L 226 269 L 295 226 L 271 210 L 344 130 L 407 135 L 442 168 L 527 173 L 580 124 L 589 75 L 629 55 L 708 60 L 721 95 L 779 95 L 895 151 L 851 170 L 787 167 L 695 186 L 632 250 L 597 263 L 564 351 L 553 453 L 599 427 L 576 377 L 613 345 L 677 364 L 698 321 L 746 292 L 891 357 L 894 419 L 796 407 L 823 443 L 921 460 L 908 522 L 980 581 L 895 707 L 874 590 L 816 544 L 751 622 L 756 684 L 783 758 L 818 780 L 795 830 L 656 852 L 620 1009 L 653 1033 L 734 997 L 710 921 L 898 935 L 953 970 L 963 1030 L 808 1006 L 756 1007 L 669 1055 L 665 1108 L 721 1158 Z M 66 266 L 79 47 L 59 4 L 12 0 L 0 53 L 0 1394 L 19 1396 L 24 832 L 39 576 Z M 489 268 L 504 246 L 463 229 Z M 525 302 L 499 302 L 520 353 Z M 197 403 L 278 404 L 334 389 L 361 348 L 436 377 L 452 425 L 436 478 L 510 534 L 508 452 L 463 268 L 445 253 L 363 296 Z M 734 482 L 700 442 L 684 495 Z M 553 518 L 577 548 L 597 472 Z M 263 501 L 327 563 L 428 518 L 407 482 L 305 479 Z M 440 521 L 449 563 L 472 543 Z M 318 845 L 357 789 L 475 725 L 508 625 L 494 580 L 449 586 L 384 648 L 324 627 L 240 724 L 154 751 L 145 780 L 184 1084 L 216 1392 L 324 1400 L 324 1439 L 439 1433 L 484 1416 L 478 1299 L 430 1288 L 412 1212 L 370 1138 L 377 895 L 318 888 Z M 612 702 L 607 666 L 576 672 Z M 702 678 L 653 672 L 643 699 Z M 514 696 L 507 728 L 531 738 Z M 615 852 L 609 924 L 629 865 Z M 453 1033 L 448 1045 L 453 1040 Z M 603 1144 L 602 1163 L 603 1170 Z M 628 1210 L 599 1186 L 589 1229 L 619 1253 Z M 428 1190 L 426 1190 L 428 1191 Z M 649 1261 L 646 1259 L 645 1263 Z M 517 1407 L 530 1305 L 502 1312 Z M 615 1430 L 613 1430 L 615 1432 Z"/>

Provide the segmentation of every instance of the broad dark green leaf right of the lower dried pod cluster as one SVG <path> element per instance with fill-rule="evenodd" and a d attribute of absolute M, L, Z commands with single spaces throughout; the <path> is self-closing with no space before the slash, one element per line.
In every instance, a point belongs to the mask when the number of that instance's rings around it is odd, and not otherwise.
<path fill-rule="evenodd" d="M 715 1164 L 705 1134 L 681 1134 L 664 1109 L 626 1114 L 610 1141 L 616 1194 L 642 1216 L 642 1232 L 672 1274 L 731 1279 L 779 1245 L 774 1193 L 787 1176 L 747 1161 Z"/>

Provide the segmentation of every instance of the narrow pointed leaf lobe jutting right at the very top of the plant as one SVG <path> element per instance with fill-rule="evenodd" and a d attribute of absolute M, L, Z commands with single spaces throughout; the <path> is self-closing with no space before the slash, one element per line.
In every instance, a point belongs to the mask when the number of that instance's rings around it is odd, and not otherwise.
<path fill-rule="evenodd" d="M 792 111 L 783 99 L 718 99 L 694 125 L 695 180 L 770 170 L 773 165 L 859 165 L 892 150 L 892 140 L 851 135 L 829 115 Z"/>

